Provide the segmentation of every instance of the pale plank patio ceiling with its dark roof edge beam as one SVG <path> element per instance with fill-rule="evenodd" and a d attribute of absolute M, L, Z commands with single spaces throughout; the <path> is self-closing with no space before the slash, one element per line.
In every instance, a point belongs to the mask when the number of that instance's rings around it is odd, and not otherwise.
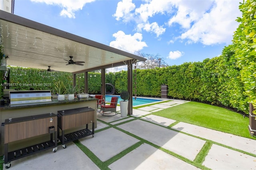
<path fill-rule="evenodd" d="M 8 65 L 81 73 L 146 61 L 145 58 L 0 10 Z M 74 61 L 84 65 L 66 65 Z M 66 59 L 66 60 L 64 60 Z"/>

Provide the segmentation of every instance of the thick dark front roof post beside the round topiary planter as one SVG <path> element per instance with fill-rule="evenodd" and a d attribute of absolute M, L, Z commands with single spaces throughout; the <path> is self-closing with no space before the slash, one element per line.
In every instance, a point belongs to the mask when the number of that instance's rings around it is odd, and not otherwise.
<path fill-rule="evenodd" d="M 127 79 L 127 90 L 130 93 L 130 98 L 128 99 L 128 115 L 132 115 L 132 60 L 127 65 Z"/>

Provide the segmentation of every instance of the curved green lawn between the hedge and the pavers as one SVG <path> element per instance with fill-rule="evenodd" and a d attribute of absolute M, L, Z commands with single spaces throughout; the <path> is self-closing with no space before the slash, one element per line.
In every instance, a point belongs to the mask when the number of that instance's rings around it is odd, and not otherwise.
<path fill-rule="evenodd" d="M 153 114 L 246 138 L 252 138 L 248 130 L 248 117 L 243 118 L 243 115 L 222 107 L 198 102 L 188 102 Z"/>

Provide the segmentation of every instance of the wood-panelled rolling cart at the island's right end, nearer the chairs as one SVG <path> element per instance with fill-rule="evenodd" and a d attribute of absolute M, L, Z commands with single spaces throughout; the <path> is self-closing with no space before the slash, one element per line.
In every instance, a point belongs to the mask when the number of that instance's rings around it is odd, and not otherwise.
<path fill-rule="evenodd" d="M 68 109 L 58 111 L 58 139 L 62 147 L 66 148 L 66 143 L 92 135 L 94 136 L 94 109 L 90 107 L 81 107 L 77 109 Z M 88 124 L 92 123 L 92 130 L 88 129 Z M 84 125 L 86 128 L 84 128 Z M 82 130 L 73 131 L 72 128 L 81 127 Z M 62 130 L 60 136 L 60 129 Z M 65 134 L 65 131 L 72 131 Z"/>

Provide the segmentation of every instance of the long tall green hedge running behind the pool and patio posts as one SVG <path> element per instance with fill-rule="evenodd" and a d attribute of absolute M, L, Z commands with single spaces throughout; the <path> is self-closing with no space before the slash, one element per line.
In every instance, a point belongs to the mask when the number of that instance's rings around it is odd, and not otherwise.
<path fill-rule="evenodd" d="M 204 59 L 202 62 L 189 62 L 155 69 L 136 69 L 136 80 L 133 76 L 133 95 L 136 89 L 137 96 L 161 97 L 161 85 L 166 84 L 170 98 L 223 105 L 248 113 L 248 95 L 243 87 L 240 68 L 236 65 L 234 49 L 235 45 L 229 45 L 223 49 L 219 57 Z M 34 90 L 50 89 L 54 93 L 55 81 L 62 80 L 67 85 L 72 85 L 73 82 L 71 73 L 48 73 L 22 67 L 11 67 L 10 71 L 10 83 L 22 84 L 12 87 L 17 90 L 29 90 L 32 87 L 31 84 L 41 83 L 42 86 L 32 88 Z M 106 74 L 106 83 L 112 83 L 115 86 L 116 94 L 126 91 L 127 71 Z M 84 73 L 76 75 L 76 85 L 78 89 L 82 89 L 80 92 L 84 91 Z M 88 73 L 88 93 L 101 93 L 101 73 Z"/>

